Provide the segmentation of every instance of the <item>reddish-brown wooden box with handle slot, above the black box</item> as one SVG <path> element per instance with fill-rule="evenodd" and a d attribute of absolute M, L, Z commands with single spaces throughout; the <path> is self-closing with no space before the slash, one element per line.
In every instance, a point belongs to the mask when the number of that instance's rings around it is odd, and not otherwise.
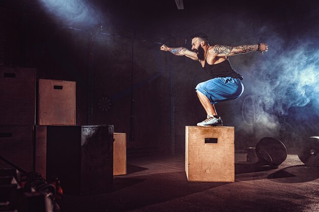
<path fill-rule="evenodd" d="M 40 79 L 38 125 L 75 125 L 75 82 Z"/>

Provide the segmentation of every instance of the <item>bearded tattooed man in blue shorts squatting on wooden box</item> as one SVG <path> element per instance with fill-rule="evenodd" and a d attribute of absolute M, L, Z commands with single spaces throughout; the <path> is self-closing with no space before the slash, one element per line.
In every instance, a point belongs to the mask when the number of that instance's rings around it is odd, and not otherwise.
<path fill-rule="evenodd" d="M 236 47 L 210 46 L 208 36 L 197 33 L 192 36 L 193 51 L 184 47 L 170 48 L 166 45 L 161 46 L 161 50 L 199 61 L 204 71 L 212 78 L 199 83 L 195 88 L 199 101 L 207 113 L 207 118 L 197 126 L 208 127 L 222 125 L 222 119 L 217 115 L 214 105 L 218 102 L 237 99 L 244 91 L 243 76 L 232 69 L 228 57 L 250 51 L 259 51 L 263 54 L 264 51 L 268 51 L 268 46 L 264 43 Z"/>

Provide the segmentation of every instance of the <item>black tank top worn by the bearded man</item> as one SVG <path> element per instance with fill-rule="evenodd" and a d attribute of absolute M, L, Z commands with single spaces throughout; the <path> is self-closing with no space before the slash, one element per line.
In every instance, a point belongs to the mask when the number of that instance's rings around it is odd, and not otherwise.
<path fill-rule="evenodd" d="M 228 58 L 224 60 L 222 63 L 218 63 L 214 65 L 209 65 L 205 59 L 205 66 L 203 67 L 203 69 L 212 78 L 233 77 L 233 78 L 238 78 L 240 80 L 243 80 L 243 76 L 241 74 L 238 74 L 232 69 Z"/>

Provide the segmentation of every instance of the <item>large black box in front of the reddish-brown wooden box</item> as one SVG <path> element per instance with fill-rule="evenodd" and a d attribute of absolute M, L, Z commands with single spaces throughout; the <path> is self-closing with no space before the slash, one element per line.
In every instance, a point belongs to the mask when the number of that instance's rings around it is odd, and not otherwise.
<path fill-rule="evenodd" d="M 46 126 L 46 176 L 66 194 L 105 192 L 113 183 L 113 125 Z"/>

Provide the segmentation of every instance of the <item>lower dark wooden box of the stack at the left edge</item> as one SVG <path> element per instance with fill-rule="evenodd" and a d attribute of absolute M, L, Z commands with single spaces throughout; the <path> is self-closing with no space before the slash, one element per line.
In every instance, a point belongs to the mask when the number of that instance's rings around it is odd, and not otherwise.
<path fill-rule="evenodd" d="M 24 171 L 33 171 L 33 126 L 0 126 L 0 155 Z M 0 160 L 0 168 L 12 168 Z"/>

